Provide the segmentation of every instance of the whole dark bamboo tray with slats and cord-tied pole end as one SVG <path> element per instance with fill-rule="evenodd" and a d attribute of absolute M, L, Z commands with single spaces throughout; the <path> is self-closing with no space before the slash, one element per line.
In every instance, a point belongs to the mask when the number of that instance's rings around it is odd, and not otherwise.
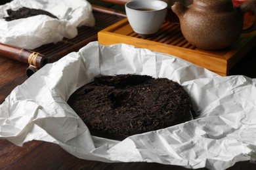
<path fill-rule="evenodd" d="M 98 31 L 125 18 L 124 12 L 107 9 L 93 5 L 95 26 L 81 26 L 77 28 L 78 34 L 74 39 L 64 38 L 57 43 L 50 43 L 39 48 L 24 49 L 0 43 L 0 56 L 11 58 L 22 63 L 28 63 L 26 75 L 31 76 L 47 63 L 53 63 L 70 52 L 77 52 L 80 48 L 92 41 L 98 40 Z"/>

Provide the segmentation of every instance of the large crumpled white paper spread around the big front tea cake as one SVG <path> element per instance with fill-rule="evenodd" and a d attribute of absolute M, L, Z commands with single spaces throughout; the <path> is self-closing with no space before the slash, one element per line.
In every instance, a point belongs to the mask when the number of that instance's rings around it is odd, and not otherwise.
<path fill-rule="evenodd" d="M 190 94 L 198 118 L 123 141 L 91 136 L 67 105 L 68 97 L 96 75 L 127 73 L 179 82 Z M 255 82 L 245 76 L 219 76 L 167 54 L 91 42 L 45 65 L 11 92 L 0 105 L 0 139 L 17 145 L 48 141 L 87 160 L 226 169 L 255 155 Z"/>

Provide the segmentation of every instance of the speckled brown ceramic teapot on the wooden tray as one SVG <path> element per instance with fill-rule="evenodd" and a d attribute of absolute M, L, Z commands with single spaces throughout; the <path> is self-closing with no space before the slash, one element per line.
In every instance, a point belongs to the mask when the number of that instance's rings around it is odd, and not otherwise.
<path fill-rule="evenodd" d="M 226 48 L 242 32 L 256 29 L 254 21 L 251 27 L 243 30 L 244 13 L 251 10 L 256 14 L 255 0 L 245 1 L 240 7 L 233 7 L 231 0 L 194 0 L 190 7 L 175 2 L 171 9 L 179 17 L 186 41 L 204 50 Z"/>

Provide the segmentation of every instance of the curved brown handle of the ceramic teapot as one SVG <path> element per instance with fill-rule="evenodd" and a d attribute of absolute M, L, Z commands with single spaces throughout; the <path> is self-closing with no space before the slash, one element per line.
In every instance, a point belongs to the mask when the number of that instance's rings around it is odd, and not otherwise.
<path fill-rule="evenodd" d="M 242 33 L 249 33 L 251 31 L 256 30 L 256 1 L 247 0 L 244 3 L 242 3 L 242 5 L 240 6 L 240 9 L 243 12 L 243 14 L 245 14 L 245 12 L 252 11 L 255 16 L 253 24 L 250 27 L 244 29 Z"/>

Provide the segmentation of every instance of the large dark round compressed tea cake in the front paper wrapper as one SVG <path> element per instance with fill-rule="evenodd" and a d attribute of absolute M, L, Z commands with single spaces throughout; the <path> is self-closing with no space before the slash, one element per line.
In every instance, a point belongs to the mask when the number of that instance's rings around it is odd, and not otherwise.
<path fill-rule="evenodd" d="M 180 84 L 146 75 L 98 76 L 68 104 L 92 135 L 125 139 L 190 120 L 192 104 Z"/>

